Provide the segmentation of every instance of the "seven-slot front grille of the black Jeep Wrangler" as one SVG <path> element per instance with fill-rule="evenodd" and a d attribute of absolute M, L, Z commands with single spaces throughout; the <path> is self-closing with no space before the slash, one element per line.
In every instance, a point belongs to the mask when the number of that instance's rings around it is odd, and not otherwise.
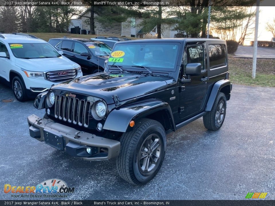
<path fill-rule="evenodd" d="M 91 106 L 90 101 L 56 95 L 54 117 L 65 122 L 88 127 Z"/>

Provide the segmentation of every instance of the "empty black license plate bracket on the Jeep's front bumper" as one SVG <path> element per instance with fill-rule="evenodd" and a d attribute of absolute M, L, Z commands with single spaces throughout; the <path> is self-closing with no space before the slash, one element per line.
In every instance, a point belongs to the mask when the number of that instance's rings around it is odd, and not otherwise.
<path fill-rule="evenodd" d="M 64 150 L 64 140 L 61 134 L 58 134 L 57 132 L 48 129 L 44 129 L 44 139 L 46 144 L 58 150 Z"/>

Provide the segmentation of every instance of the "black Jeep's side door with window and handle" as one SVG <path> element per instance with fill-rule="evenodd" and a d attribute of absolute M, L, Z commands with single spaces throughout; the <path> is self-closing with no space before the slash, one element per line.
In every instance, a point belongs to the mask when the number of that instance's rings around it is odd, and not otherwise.
<path fill-rule="evenodd" d="M 203 111 L 207 92 L 207 69 L 206 69 L 205 43 L 186 45 L 182 60 L 182 74 L 180 78 L 187 78 L 185 74 L 186 65 L 189 63 L 200 63 L 201 74 L 190 76 L 189 83 L 180 83 L 179 93 L 179 118 L 185 120 Z"/>

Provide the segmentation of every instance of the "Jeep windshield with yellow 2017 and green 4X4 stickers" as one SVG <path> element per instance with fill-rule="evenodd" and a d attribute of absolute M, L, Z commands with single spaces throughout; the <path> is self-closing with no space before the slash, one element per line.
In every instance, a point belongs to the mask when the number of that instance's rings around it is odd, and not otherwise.
<path fill-rule="evenodd" d="M 180 43 L 177 42 L 116 44 L 107 66 L 175 71 L 179 50 Z"/>

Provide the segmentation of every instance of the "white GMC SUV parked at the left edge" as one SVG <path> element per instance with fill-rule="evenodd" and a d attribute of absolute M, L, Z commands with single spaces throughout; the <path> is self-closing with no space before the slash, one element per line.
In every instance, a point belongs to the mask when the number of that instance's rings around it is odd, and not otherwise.
<path fill-rule="evenodd" d="M 0 77 L 19 101 L 34 98 L 52 85 L 83 76 L 81 67 L 33 35 L 0 33 Z"/>

